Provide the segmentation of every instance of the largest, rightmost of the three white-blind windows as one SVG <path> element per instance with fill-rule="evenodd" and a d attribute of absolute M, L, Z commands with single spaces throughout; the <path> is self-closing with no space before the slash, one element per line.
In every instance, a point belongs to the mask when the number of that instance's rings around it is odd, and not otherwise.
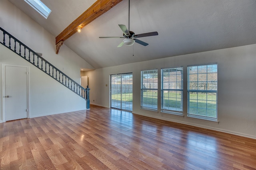
<path fill-rule="evenodd" d="M 217 121 L 217 64 L 188 66 L 188 117 Z"/>

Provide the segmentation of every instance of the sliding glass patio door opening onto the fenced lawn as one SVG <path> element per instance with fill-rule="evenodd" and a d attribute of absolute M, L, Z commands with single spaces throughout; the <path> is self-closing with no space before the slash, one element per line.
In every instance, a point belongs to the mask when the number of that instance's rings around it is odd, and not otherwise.
<path fill-rule="evenodd" d="M 110 106 L 132 111 L 132 73 L 110 75 Z"/>

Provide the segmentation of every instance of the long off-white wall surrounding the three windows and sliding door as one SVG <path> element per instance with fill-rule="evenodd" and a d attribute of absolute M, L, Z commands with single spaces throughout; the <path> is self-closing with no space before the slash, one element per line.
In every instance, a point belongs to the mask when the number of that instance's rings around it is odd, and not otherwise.
<path fill-rule="evenodd" d="M 186 117 L 187 66 L 207 63 L 218 63 L 219 124 Z M 158 68 L 160 72 L 160 68 L 175 66 L 184 66 L 184 118 L 166 114 L 162 117 L 160 101 L 158 112 L 140 109 L 140 71 Z M 87 71 L 91 103 L 109 107 L 110 74 L 127 72 L 133 73 L 133 113 L 256 139 L 256 44 Z"/>

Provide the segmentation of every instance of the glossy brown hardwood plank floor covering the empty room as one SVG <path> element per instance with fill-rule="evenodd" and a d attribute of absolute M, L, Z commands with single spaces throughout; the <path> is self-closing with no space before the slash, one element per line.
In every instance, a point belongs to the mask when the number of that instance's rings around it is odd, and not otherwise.
<path fill-rule="evenodd" d="M 0 170 L 256 170 L 256 140 L 91 105 L 0 123 Z"/>

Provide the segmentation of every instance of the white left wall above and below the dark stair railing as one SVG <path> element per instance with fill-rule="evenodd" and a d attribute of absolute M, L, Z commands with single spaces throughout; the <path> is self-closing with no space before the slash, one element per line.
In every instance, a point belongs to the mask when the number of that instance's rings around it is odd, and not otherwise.
<path fill-rule="evenodd" d="M 0 1 L 0 27 L 11 33 L 76 82 L 80 68 L 93 68 L 71 49 L 62 45 L 56 55 L 55 37 L 26 16 L 8 0 Z M 28 29 L 28 32 L 26 31 Z M 2 40 L 1 40 L 2 41 Z M 6 40 L 8 41 L 8 39 Z M 44 72 L 0 45 L 0 94 L 2 96 L 2 63 L 30 66 L 30 116 L 37 117 L 86 109 L 86 102 Z M 2 98 L 0 98 L 0 122 Z"/>

